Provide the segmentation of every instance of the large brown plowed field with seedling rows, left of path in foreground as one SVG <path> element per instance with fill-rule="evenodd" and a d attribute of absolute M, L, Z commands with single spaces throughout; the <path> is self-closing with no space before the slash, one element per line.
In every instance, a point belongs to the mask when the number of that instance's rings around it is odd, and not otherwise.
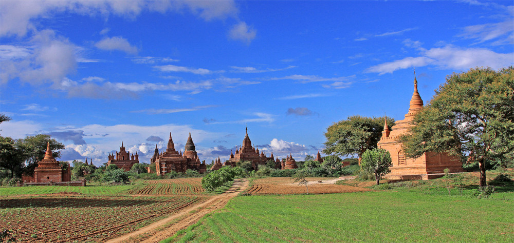
<path fill-rule="evenodd" d="M 0 225 L 19 241 L 104 241 L 206 197 L 47 196 L 3 199 Z"/>

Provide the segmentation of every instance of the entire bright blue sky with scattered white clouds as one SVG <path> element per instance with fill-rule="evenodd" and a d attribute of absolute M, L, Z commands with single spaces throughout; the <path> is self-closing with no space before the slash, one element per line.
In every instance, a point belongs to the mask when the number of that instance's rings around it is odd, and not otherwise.
<path fill-rule="evenodd" d="M 149 163 L 191 132 L 201 160 L 256 146 L 303 160 L 351 115 L 402 119 L 453 72 L 514 64 L 512 1 L 0 2 L 2 135 L 62 160 Z"/>

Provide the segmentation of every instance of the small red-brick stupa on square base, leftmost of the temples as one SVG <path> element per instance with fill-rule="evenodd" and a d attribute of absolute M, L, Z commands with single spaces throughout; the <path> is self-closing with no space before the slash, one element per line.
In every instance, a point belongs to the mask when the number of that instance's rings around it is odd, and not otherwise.
<path fill-rule="evenodd" d="M 59 161 L 53 158 L 50 143 L 47 143 L 45 157 L 34 169 L 34 176 L 23 176 L 23 179 L 29 183 L 61 183 L 71 180 L 71 170 L 69 163 L 63 169 Z"/>

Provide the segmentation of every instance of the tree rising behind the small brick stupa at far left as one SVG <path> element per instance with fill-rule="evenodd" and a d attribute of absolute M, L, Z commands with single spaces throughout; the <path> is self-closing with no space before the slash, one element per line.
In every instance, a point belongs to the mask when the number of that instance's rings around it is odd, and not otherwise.
<path fill-rule="evenodd" d="M 50 138 L 50 135 L 27 136 L 15 141 L 15 146 L 22 151 L 22 159 L 26 162 L 25 173 L 29 175 L 34 173 L 34 168 L 38 166 L 38 162 L 45 157 L 47 143 L 49 143 L 52 156 L 54 158 L 61 157 L 60 150 L 64 149 L 64 145 L 56 139 Z"/>

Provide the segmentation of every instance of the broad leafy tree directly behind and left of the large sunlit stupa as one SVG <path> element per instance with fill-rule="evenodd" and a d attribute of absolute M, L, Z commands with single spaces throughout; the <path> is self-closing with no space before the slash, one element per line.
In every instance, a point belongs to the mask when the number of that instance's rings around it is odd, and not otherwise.
<path fill-rule="evenodd" d="M 391 129 L 394 119 L 388 117 L 387 124 Z M 346 120 L 334 123 L 326 129 L 323 153 L 335 154 L 339 157 L 356 154 L 360 161 L 364 151 L 377 148 L 383 127 L 383 116 L 373 118 L 359 115 L 348 116 Z"/>

